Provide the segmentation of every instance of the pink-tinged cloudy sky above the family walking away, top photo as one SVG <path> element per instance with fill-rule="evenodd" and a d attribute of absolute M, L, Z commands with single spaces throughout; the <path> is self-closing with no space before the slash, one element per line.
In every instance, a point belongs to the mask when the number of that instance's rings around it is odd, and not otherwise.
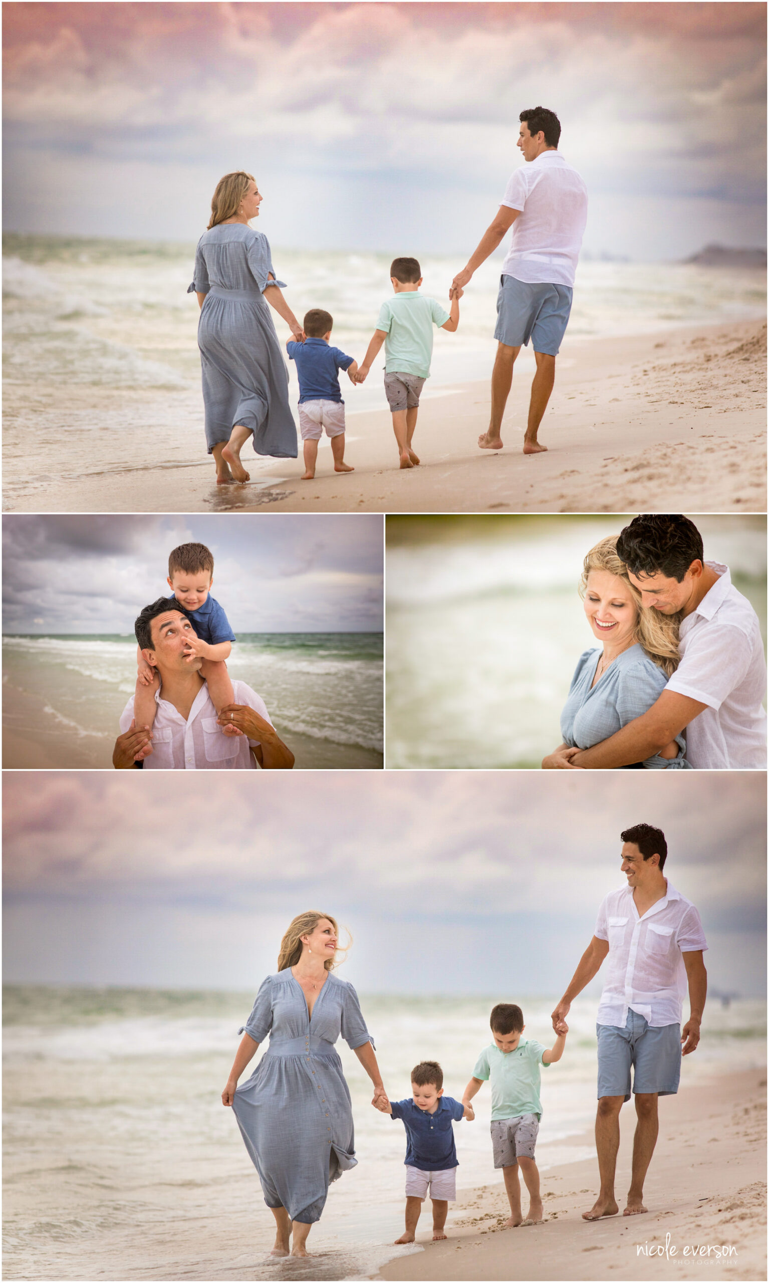
<path fill-rule="evenodd" d="M 8 230 L 192 240 L 245 168 L 274 245 L 467 255 L 542 103 L 593 253 L 765 244 L 763 4 L 10 4 L 4 47 Z"/>

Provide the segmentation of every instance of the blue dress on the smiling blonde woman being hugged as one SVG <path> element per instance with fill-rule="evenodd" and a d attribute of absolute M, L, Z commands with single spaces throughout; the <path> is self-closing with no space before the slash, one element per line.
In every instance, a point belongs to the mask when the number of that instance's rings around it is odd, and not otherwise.
<path fill-rule="evenodd" d="M 649 712 L 668 685 L 663 670 L 649 658 L 642 645 L 636 643 L 618 654 L 595 686 L 591 685 L 601 647 L 591 647 L 579 657 L 574 668 L 569 698 L 561 711 L 561 735 L 570 748 L 592 748 L 615 735 L 634 717 Z M 646 770 L 691 770 L 684 758 L 686 740 L 675 736 L 678 757 L 666 758 L 655 753 L 640 766 Z"/>

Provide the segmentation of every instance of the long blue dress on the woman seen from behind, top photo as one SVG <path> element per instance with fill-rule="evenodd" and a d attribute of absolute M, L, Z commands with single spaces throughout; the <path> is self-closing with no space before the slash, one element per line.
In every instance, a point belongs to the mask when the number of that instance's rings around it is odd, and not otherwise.
<path fill-rule="evenodd" d="M 295 459 L 296 425 L 288 373 L 269 304 L 276 276 L 269 241 L 245 223 L 219 223 L 203 234 L 187 294 L 205 294 L 197 323 L 209 454 L 236 423 L 252 431 L 258 454 Z"/>

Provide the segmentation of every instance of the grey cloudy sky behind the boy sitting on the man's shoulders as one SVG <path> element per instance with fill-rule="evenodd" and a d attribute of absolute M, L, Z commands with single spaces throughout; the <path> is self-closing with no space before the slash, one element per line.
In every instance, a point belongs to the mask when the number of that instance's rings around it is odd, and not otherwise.
<path fill-rule="evenodd" d="M 237 633 L 382 629 L 382 517 L 5 517 L 5 633 L 133 633 L 168 595 L 168 554 L 204 543 Z"/>

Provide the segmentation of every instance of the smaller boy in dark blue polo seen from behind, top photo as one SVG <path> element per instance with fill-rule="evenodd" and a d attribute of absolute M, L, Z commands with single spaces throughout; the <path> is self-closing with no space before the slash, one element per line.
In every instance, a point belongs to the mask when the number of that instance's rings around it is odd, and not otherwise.
<path fill-rule="evenodd" d="M 304 343 L 288 339 L 288 359 L 296 362 L 299 376 L 299 430 L 304 449 L 305 472 L 302 481 L 315 476 L 318 441 L 326 429 L 331 440 L 335 472 L 352 472 L 345 463 L 345 403 L 340 391 L 340 370 L 346 370 L 350 382 L 355 382 L 358 362 L 345 355 L 340 348 L 331 348 L 333 317 L 323 308 L 313 308 L 305 316 Z"/>

